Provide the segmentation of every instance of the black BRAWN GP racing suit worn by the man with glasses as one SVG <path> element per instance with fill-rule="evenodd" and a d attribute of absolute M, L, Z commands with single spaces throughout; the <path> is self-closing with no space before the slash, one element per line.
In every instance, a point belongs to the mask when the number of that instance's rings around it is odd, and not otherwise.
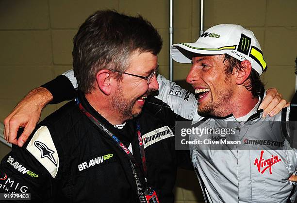
<path fill-rule="evenodd" d="M 61 99 L 52 88 L 52 83 L 56 84 L 54 81 L 45 85 L 53 92 L 53 102 L 57 101 L 55 98 Z M 135 127 L 135 122 L 139 121 L 143 142 L 147 145 L 148 186 L 156 190 L 160 203 L 174 202 L 172 190 L 177 166 L 192 169 L 189 152 L 175 151 L 175 120 L 183 118 L 174 114 L 164 102 L 148 97 L 141 115 L 128 121 L 123 129 L 116 129 L 89 105 L 82 93 L 78 95 L 91 115 L 115 133 L 127 147 L 132 144 L 138 165 L 135 167 L 136 179 L 140 180 L 144 190 L 146 184 Z M 3 158 L 0 165 L 0 178 L 4 174 L 7 178 L 0 179 L 0 184 L 6 185 L 8 192 L 24 192 L 25 188 L 26 192 L 31 192 L 32 199 L 38 201 L 139 202 L 137 180 L 130 159 L 79 110 L 75 101 L 70 101 L 41 121 L 22 148 L 13 146 L 12 152 Z M 20 190 L 20 186 L 25 187 Z M 0 187 L 0 192 L 7 191 Z"/>

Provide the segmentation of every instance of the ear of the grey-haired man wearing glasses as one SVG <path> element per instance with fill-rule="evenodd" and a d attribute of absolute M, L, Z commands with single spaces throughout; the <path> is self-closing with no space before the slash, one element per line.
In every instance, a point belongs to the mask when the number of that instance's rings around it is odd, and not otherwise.
<path fill-rule="evenodd" d="M 97 85 L 105 95 L 110 95 L 111 93 L 111 84 L 110 84 L 111 79 L 112 79 L 112 73 L 110 72 L 110 70 L 101 69 L 96 74 Z"/>

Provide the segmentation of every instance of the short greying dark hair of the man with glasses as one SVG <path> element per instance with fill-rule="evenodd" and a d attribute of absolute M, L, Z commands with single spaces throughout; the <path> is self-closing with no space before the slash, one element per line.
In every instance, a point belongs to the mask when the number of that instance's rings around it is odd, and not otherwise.
<path fill-rule="evenodd" d="M 118 72 L 119 79 L 129 67 L 134 51 L 157 55 L 161 48 L 160 34 L 142 16 L 97 11 L 82 23 L 73 38 L 73 69 L 78 88 L 90 93 L 100 69 Z"/>

